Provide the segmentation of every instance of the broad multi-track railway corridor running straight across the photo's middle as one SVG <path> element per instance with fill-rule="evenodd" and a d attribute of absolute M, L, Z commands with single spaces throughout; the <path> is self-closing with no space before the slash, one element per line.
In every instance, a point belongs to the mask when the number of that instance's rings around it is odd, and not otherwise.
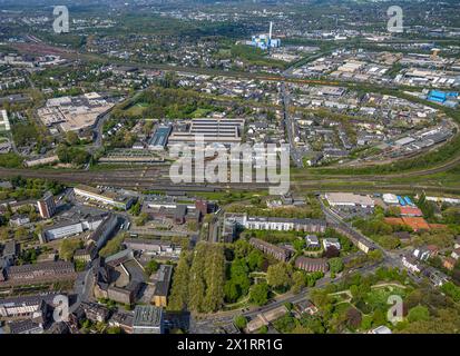
<path fill-rule="evenodd" d="M 22 176 L 25 178 L 41 178 L 63 184 L 89 184 L 94 186 L 111 186 L 137 190 L 168 190 L 168 191 L 227 191 L 227 190 L 267 190 L 271 184 L 174 184 L 168 176 L 168 167 L 149 167 L 144 169 L 117 169 L 107 171 L 52 171 L 31 169 L 0 169 L 1 178 Z M 313 178 L 313 177 L 312 177 Z M 392 184 L 381 177 L 341 177 L 315 178 L 311 180 L 292 180 L 291 188 L 295 191 L 414 191 L 460 194 L 460 187 L 444 187 L 428 184 Z"/>

